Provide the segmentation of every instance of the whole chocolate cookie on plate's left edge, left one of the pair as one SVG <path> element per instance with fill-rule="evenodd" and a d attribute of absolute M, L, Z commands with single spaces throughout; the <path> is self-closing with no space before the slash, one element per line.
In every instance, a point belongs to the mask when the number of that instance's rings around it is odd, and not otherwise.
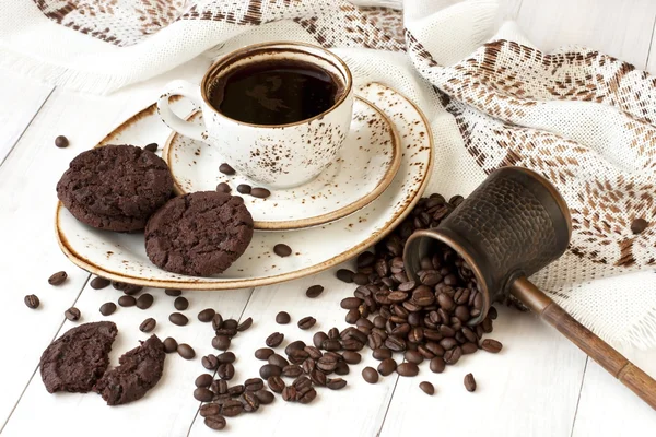
<path fill-rule="evenodd" d="M 82 152 L 57 184 L 57 197 L 75 218 L 117 232 L 143 229 L 172 190 L 166 163 L 133 145 Z"/>

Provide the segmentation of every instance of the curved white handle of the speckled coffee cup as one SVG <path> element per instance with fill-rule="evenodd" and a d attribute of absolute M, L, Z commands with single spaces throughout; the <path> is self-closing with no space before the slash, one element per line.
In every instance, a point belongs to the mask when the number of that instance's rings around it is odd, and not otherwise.
<path fill-rule="evenodd" d="M 187 97 L 194 103 L 194 106 L 196 106 L 197 109 L 201 109 L 202 97 L 200 96 L 200 87 L 183 80 L 168 82 L 164 87 L 164 92 L 157 99 L 157 114 L 162 121 L 176 132 L 192 138 L 194 140 L 207 142 L 208 133 L 204 121 L 202 122 L 202 126 L 195 125 L 187 120 L 183 120 L 171 109 L 168 97 L 174 95 Z"/>

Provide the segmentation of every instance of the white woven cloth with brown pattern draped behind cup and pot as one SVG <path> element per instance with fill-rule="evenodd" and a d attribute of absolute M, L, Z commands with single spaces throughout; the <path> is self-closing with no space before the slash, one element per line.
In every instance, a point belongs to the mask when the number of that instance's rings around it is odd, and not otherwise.
<path fill-rule="evenodd" d="M 368 3 L 3 0 L 0 68 L 104 93 L 251 43 L 329 47 L 358 83 L 425 111 L 430 191 L 467 194 L 504 165 L 547 176 L 574 232 L 532 280 L 606 340 L 656 345 L 656 79 L 593 50 L 543 54 L 512 23 L 494 36 L 493 0 L 411 0 L 402 15 Z M 639 217 L 648 226 L 634 235 Z"/>

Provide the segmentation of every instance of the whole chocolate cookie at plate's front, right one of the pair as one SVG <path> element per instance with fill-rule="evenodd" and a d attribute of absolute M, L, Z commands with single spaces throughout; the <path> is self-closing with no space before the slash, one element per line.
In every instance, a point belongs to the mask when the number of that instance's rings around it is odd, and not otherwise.
<path fill-rule="evenodd" d="M 221 273 L 253 238 L 239 197 L 200 191 L 169 200 L 145 226 L 145 252 L 157 267 L 195 276 Z"/>

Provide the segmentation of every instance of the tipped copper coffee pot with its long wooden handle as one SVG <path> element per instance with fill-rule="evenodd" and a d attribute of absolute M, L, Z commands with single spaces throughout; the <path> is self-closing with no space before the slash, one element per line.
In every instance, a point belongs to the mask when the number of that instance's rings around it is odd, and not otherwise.
<path fill-rule="evenodd" d="M 475 273 L 483 310 L 512 294 L 558 329 L 601 367 L 656 410 L 656 381 L 576 321 L 527 277 L 558 259 L 570 244 L 572 218 L 558 190 L 542 176 L 522 167 L 492 173 L 440 226 L 415 232 L 403 259 L 418 280 L 420 260 L 445 244 Z"/>

